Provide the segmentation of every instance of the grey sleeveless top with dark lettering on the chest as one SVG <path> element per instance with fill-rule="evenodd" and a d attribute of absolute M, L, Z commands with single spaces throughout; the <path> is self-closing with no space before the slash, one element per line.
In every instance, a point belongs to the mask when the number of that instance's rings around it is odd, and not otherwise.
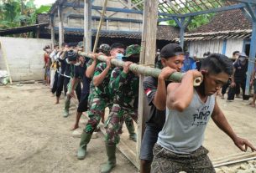
<path fill-rule="evenodd" d="M 194 89 L 191 104 L 183 112 L 166 109 L 165 125 L 159 132 L 157 143 L 177 154 L 190 154 L 198 149 L 204 140 L 214 104 L 214 95 L 208 96 L 203 103 Z"/>

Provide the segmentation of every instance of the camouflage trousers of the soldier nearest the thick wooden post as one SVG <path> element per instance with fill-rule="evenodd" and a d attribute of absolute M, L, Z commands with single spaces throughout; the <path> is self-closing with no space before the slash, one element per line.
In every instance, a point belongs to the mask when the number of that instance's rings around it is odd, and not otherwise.
<path fill-rule="evenodd" d="M 117 145 L 120 141 L 120 132 L 122 133 L 123 122 L 126 125 L 133 123 L 133 120 L 138 120 L 137 109 L 127 109 L 121 107 L 119 104 L 113 104 L 110 114 L 105 123 L 106 128 L 106 144 Z"/>

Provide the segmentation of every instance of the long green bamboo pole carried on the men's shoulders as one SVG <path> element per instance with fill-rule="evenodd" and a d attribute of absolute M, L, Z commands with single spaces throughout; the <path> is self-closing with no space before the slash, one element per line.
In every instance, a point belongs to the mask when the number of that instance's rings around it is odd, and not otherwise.
<path fill-rule="evenodd" d="M 88 53 L 78 52 L 78 54 L 92 59 L 91 56 L 88 56 Z M 100 61 L 106 62 L 106 56 L 100 55 L 97 57 L 97 59 L 99 59 Z M 118 59 L 111 59 L 111 64 L 113 64 L 117 67 L 123 67 L 124 63 L 125 62 L 120 61 Z M 148 66 L 143 66 L 140 64 L 131 64 L 129 66 L 129 69 L 131 71 L 133 71 L 134 73 L 144 74 L 145 76 L 153 76 L 155 78 L 158 78 L 159 74 L 161 73 L 161 69 L 154 69 L 154 68 L 151 68 Z M 171 74 L 169 79 L 167 79 L 167 80 L 180 82 L 184 74 L 185 73 L 175 72 L 175 73 Z M 201 78 L 196 78 L 194 80 L 194 86 L 198 86 L 199 84 L 201 84 Z"/>

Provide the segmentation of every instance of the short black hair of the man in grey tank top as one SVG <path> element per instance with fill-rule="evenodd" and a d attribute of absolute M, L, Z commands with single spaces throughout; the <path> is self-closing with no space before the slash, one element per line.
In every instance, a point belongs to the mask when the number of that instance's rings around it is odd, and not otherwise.
<path fill-rule="evenodd" d="M 233 72 L 232 60 L 221 53 L 212 53 L 202 60 L 201 69 L 207 69 L 212 74 L 224 72 L 231 76 Z"/>

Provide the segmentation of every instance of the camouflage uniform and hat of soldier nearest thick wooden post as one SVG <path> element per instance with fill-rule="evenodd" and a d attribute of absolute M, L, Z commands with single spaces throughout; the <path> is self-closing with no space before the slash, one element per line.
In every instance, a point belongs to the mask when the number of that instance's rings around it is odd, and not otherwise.
<path fill-rule="evenodd" d="M 134 53 L 139 53 L 138 45 L 131 45 L 127 48 L 127 57 Z M 112 71 L 109 82 L 109 90 L 113 97 L 113 106 L 111 113 L 106 121 L 106 143 L 107 145 L 118 144 L 120 137 L 119 132 L 122 131 L 123 122 L 126 125 L 138 120 L 138 83 L 139 78 L 133 72 L 125 74 L 123 68 L 115 68 Z M 132 120 L 133 119 L 133 120 Z M 128 123 L 127 123 L 128 122 Z"/>

